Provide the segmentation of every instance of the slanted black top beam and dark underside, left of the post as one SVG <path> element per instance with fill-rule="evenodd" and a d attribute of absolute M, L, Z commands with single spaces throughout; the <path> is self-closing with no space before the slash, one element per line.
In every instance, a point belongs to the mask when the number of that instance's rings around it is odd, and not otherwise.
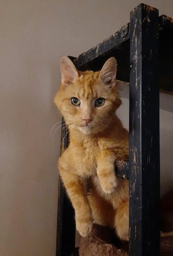
<path fill-rule="evenodd" d="M 129 81 L 129 24 L 126 24 L 103 42 L 92 49 L 73 58 L 74 65 L 81 71 L 98 71 L 109 57 L 115 57 L 118 62 L 117 79 Z"/>

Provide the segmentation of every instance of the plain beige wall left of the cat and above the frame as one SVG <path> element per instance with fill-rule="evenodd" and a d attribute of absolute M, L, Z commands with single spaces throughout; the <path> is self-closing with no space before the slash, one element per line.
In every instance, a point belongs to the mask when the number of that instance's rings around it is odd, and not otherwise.
<path fill-rule="evenodd" d="M 140 0 L 0 0 L 0 256 L 55 256 L 60 57 L 129 22 Z M 172 0 L 146 4 L 173 16 Z"/>

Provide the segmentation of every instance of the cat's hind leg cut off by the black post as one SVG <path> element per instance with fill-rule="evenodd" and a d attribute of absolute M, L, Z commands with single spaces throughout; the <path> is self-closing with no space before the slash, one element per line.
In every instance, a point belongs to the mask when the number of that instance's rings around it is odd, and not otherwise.
<path fill-rule="evenodd" d="M 129 201 L 119 205 L 115 215 L 115 228 L 120 239 L 129 241 Z"/>

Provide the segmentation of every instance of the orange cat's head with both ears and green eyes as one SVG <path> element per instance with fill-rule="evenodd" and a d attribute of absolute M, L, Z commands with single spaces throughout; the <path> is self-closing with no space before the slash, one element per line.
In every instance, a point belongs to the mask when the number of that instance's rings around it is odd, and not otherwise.
<path fill-rule="evenodd" d="M 116 72 L 117 62 L 113 57 L 99 72 L 80 72 L 69 58 L 62 57 L 62 80 L 54 102 L 69 128 L 95 134 L 109 126 L 121 104 Z"/>

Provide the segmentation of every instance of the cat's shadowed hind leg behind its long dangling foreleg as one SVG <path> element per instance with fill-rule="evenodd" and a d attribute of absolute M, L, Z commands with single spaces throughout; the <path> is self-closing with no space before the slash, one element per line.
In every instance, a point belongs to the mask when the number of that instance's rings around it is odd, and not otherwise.
<path fill-rule="evenodd" d="M 94 222 L 114 228 L 115 210 L 111 203 L 102 198 L 95 188 L 89 189 L 88 199 Z"/>

